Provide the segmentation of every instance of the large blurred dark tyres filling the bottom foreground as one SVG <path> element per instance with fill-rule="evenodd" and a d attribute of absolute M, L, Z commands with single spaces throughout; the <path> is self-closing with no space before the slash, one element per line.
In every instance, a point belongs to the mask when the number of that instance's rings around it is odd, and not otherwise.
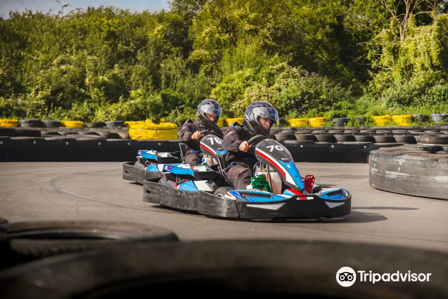
<path fill-rule="evenodd" d="M 179 242 L 165 229 L 101 221 L 34 221 L 0 229 L 4 299 L 143 298 L 190 290 L 295 298 L 448 297 L 444 252 L 310 240 Z M 361 282 L 356 271 L 372 271 L 375 279 L 422 275 L 420 282 L 373 285 L 371 279 Z"/>

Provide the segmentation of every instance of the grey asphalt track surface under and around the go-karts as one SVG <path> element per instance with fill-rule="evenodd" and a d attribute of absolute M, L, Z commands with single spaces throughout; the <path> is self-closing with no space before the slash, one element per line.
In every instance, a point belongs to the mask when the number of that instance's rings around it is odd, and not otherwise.
<path fill-rule="evenodd" d="M 375 190 L 368 164 L 297 163 L 320 185 L 345 187 L 352 211 L 340 219 L 214 219 L 142 201 L 142 186 L 121 178 L 118 162 L 0 163 L 0 216 L 27 220 L 103 219 L 162 226 L 181 240 L 323 239 L 448 251 L 448 201 Z"/>

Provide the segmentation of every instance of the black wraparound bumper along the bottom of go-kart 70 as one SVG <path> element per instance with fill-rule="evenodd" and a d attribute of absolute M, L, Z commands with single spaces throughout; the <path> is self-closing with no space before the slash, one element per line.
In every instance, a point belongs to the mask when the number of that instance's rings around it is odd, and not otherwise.
<path fill-rule="evenodd" d="M 143 201 L 208 216 L 241 219 L 336 218 L 351 212 L 350 193 L 348 197 L 338 200 L 307 194 L 294 195 L 285 200 L 254 202 L 222 198 L 205 191 L 179 190 L 149 180 L 143 182 Z"/>

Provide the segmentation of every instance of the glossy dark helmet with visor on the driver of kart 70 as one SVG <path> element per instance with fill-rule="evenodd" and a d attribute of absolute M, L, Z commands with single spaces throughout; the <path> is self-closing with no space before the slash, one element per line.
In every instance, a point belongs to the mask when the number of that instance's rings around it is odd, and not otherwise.
<path fill-rule="evenodd" d="M 269 130 L 264 129 L 259 121 L 260 117 L 271 120 L 270 130 L 274 123 L 276 125 L 279 123 L 277 110 L 266 101 L 253 101 L 247 106 L 246 112 L 244 113 L 244 120 L 252 129 L 253 133 L 269 136 Z"/>

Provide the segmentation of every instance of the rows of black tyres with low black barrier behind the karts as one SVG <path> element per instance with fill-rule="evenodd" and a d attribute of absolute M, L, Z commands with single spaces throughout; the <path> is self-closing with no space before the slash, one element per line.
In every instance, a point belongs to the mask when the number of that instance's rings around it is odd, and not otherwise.
<path fill-rule="evenodd" d="M 130 139 L 128 130 L 0 128 L 0 161 L 131 161 L 138 149 L 179 150 L 178 140 L 138 140 L 137 143 Z M 337 163 L 366 163 L 369 152 L 381 147 L 448 146 L 447 133 L 447 126 L 407 130 L 384 127 L 273 130 L 276 139 L 286 144 L 296 161 Z"/>

